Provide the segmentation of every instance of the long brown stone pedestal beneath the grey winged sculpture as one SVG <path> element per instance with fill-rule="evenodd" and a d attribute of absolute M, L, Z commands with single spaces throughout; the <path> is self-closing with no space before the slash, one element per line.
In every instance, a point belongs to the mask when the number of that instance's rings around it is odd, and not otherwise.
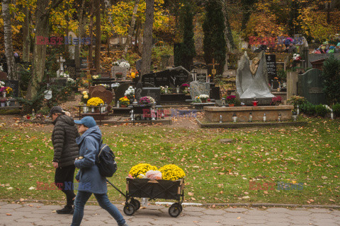
<path fill-rule="evenodd" d="M 253 121 L 263 121 L 263 114 L 266 113 L 266 121 L 278 121 L 278 114 L 281 114 L 281 121 L 292 119 L 292 105 L 281 106 L 260 106 L 260 107 L 203 107 L 207 121 L 217 122 L 232 121 L 232 115 L 237 115 L 238 122 L 249 121 L 249 113 Z"/>

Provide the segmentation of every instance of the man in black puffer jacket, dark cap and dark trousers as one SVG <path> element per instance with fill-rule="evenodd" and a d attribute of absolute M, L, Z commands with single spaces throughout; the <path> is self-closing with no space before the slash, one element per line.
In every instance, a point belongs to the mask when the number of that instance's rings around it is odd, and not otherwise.
<path fill-rule="evenodd" d="M 66 114 L 65 114 L 66 113 Z M 68 114 L 68 115 L 67 115 Z M 55 150 L 53 166 L 55 167 L 55 185 L 66 194 L 67 204 L 59 214 L 73 214 L 74 209 L 74 160 L 79 156 L 79 147 L 76 138 L 79 136 L 74 121 L 69 117 L 69 112 L 64 112 L 61 107 L 55 106 L 50 110 L 52 124 L 52 144 Z"/>

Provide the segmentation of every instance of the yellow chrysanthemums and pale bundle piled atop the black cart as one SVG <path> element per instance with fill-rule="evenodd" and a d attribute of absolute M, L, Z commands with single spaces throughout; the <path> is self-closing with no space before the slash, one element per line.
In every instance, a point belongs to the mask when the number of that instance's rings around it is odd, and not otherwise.
<path fill-rule="evenodd" d="M 130 169 L 128 177 L 132 179 L 144 178 L 176 181 L 186 177 L 186 173 L 183 171 L 183 169 L 173 164 L 164 165 L 163 167 L 157 169 L 157 167 L 147 163 L 140 163 Z"/>

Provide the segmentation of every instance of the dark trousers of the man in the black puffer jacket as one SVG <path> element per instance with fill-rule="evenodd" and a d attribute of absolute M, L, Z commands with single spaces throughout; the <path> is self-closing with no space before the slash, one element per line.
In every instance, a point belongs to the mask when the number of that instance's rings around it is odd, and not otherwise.
<path fill-rule="evenodd" d="M 55 169 L 55 185 L 66 195 L 66 206 L 72 206 L 74 203 L 74 171 L 76 167 L 69 165 L 67 167 L 58 167 Z"/>

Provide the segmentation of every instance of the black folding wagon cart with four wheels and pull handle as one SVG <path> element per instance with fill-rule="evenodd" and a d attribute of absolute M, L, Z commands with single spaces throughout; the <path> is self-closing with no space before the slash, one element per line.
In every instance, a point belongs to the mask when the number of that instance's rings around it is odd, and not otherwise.
<path fill-rule="evenodd" d="M 111 182 L 108 182 L 111 184 Z M 111 184 L 117 189 L 113 184 Z M 122 191 L 117 189 L 120 194 Z M 126 178 L 126 194 L 124 213 L 126 215 L 133 215 L 140 208 L 140 201 L 135 198 L 149 198 L 149 200 L 156 198 L 174 199 L 177 202 L 172 204 L 169 208 L 169 215 L 171 217 L 178 217 L 183 208 L 182 203 L 184 199 L 184 179 L 176 181 L 169 181 L 164 179 L 132 179 Z M 130 202 L 129 202 L 130 200 Z"/>

